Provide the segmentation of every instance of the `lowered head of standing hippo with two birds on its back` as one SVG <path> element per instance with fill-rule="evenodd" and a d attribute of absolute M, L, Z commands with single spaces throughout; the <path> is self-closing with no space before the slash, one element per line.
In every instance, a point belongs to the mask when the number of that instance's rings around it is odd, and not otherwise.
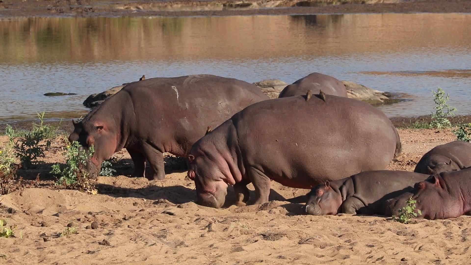
<path fill-rule="evenodd" d="M 197 203 L 206 207 L 220 208 L 227 195 L 227 177 L 221 172 L 219 163 L 206 155 L 188 155 L 188 178 L 195 181 Z"/>

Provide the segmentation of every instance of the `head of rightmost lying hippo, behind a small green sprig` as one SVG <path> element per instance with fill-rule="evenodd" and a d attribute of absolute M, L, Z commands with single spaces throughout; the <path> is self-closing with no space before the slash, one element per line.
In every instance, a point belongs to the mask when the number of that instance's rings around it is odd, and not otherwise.
<path fill-rule="evenodd" d="M 452 201 L 445 182 L 439 174 L 435 174 L 424 181 L 415 183 L 412 192 L 405 192 L 394 199 L 387 200 L 385 212 L 398 216 L 399 209 L 406 207 L 407 200 L 411 198 L 416 200 L 415 209 L 422 212 L 421 215 L 417 215 L 417 218 L 430 220 L 449 218 L 451 213 L 459 211 L 456 207 L 462 207 Z"/>

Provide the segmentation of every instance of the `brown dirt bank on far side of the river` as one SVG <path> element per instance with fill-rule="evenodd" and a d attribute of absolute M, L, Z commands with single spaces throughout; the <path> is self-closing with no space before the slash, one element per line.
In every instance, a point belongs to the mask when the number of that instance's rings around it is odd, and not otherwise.
<path fill-rule="evenodd" d="M 0 0 L 1 17 L 237 16 L 386 12 L 470 12 L 471 0 Z"/>

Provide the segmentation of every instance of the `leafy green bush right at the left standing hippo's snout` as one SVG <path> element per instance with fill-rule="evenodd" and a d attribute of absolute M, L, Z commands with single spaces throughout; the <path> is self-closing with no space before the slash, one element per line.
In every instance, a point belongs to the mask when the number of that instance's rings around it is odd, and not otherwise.
<path fill-rule="evenodd" d="M 59 175 L 56 185 L 63 185 L 66 189 L 74 189 L 96 194 L 97 190 L 91 183 L 89 174 L 84 167 L 93 156 L 95 149 L 91 146 L 88 151 L 81 150 L 81 145 L 78 141 L 73 141 L 67 146 L 65 155 L 65 166 L 61 167 L 60 164 L 54 164 L 51 167 L 52 174 Z"/>

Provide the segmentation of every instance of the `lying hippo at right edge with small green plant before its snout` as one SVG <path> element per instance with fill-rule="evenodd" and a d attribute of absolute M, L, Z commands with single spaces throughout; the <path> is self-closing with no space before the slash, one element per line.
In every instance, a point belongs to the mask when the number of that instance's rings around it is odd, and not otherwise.
<path fill-rule="evenodd" d="M 435 220 L 470 215 L 471 168 L 431 175 L 415 183 L 411 192 L 387 200 L 385 207 L 390 215 L 398 215 L 411 197 L 416 200 L 415 209 L 422 211 L 417 218 Z"/>

